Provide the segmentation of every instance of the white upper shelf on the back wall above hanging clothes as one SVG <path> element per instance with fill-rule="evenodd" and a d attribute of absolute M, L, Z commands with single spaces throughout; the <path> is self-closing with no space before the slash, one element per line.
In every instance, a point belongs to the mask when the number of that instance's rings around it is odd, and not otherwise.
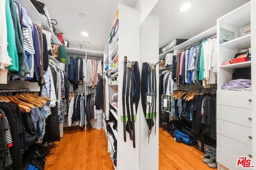
<path fill-rule="evenodd" d="M 74 49 L 74 48 L 67 48 L 67 47 L 66 47 L 66 51 L 68 55 L 98 57 L 103 59 L 103 52 L 99 52 L 99 51 L 90 51 L 90 50 Z"/>

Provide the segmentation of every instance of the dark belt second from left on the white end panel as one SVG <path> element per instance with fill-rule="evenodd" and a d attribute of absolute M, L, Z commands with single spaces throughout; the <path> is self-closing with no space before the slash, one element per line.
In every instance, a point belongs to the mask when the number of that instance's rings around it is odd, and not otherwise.
<path fill-rule="evenodd" d="M 128 132 L 130 134 L 130 140 L 132 140 L 132 125 L 131 125 L 131 117 L 130 117 L 130 107 L 129 107 L 129 92 L 130 92 L 130 71 L 132 64 L 130 61 L 127 62 L 127 77 L 126 77 L 126 111 L 127 111 L 127 124 L 128 124 Z"/>

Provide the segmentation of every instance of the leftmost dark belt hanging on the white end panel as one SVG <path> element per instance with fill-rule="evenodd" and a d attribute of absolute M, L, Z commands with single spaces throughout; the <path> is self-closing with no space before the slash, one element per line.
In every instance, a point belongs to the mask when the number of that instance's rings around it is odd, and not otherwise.
<path fill-rule="evenodd" d="M 124 125 L 124 141 L 126 142 L 126 116 L 125 116 L 125 84 L 126 84 L 126 69 L 127 69 L 127 57 L 124 57 L 124 78 L 123 78 L 123 92 L 122 92 L 122 106 L 123 106 L 123 125 Z"/>

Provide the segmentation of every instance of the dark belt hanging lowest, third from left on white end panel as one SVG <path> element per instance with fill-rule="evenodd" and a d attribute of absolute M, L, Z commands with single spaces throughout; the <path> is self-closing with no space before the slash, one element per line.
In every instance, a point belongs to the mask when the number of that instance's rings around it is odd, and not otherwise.
<path fill-rule="evenodd" d="M 128 72 L 129 74 L 129 72 Z M 133 112 L 133 95 L 134 95 L 134 62 L 131 65 L 131 88 L 130 88 L 130 104 L 131 104 L 131 117 L 132 117 L 132 143 L 135 148 L 135 127 L 134 127 L 134 112 Z"/>

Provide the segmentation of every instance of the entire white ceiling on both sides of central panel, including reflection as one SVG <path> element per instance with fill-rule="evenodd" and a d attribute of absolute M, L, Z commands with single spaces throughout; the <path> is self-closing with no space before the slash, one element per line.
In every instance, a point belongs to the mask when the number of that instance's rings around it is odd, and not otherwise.
<path fill-rule="evenodd" d="M 39 0 L 48 7 L 51 19 L 56 19 L 57 32 L 63 32 L 70 47 L 104 51 L 118 4 L 134 7 L 138 0 Z M 189 39 L 216 25 L 216 19 L 245 4 L 249 0 L 159 0 L 150 14 L 160 18 L 160 47 L 173 39 Z M 187 12 L 180 6 L 190 2 Z M 79 13 L 85 14 L 80 18 Z M 86 31 L 89 36 L 81 35 Z"/>

